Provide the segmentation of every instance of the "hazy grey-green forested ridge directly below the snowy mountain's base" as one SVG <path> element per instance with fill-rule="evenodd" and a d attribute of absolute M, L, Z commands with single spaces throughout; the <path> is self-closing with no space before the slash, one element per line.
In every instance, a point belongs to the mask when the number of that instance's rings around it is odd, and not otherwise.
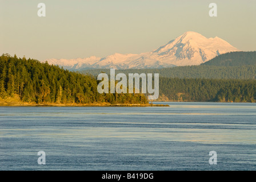
<path fill-rule="evenodd" d="M 97 76 L 101 72 L 109 74 L 110 69 L 89 69 L 82 73 L 89 73 Z M 256 65 L 244 65 L 239 67 L 219 67 L 219 66 L 186 66 L 162 69 L 123 69 L 116 73 L 159 73 L 161 77 L 171 78 L 223 78 L 223 79 L 255 79 Z"/>

